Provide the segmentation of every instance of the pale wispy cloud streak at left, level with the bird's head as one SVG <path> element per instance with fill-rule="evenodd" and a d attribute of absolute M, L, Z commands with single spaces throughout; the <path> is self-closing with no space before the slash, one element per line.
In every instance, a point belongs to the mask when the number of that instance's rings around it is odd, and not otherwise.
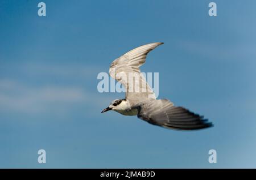
<path fill-rule="evenodd" d="M 77 87 L 32 87 L 11 80 L 0 80 L 0 107 L 22 113 L 65 110 L 65 107 L 88 100 L 90 95 Z"/>

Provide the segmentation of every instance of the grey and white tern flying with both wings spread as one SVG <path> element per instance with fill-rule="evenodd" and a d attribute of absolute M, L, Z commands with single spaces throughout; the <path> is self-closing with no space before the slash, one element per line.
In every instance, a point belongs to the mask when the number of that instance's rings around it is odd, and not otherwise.
<path fill-rule="evenodd" d="M 126 96 L 112 101 L 101 113 L 114 110 L 123 115 L 137 115 L 152 125 L 175 130 L 199 130 L 213 126 L 208 119 L 183 107 L 175 106 L 170 100 L 156 100 L 154 91 L 141 75 L 139 67 L 145 63 L 147 54 L 162 44 L 163 42 L 154 42 L 139 46 L 112 62 L 109 74 L 125 87 Z M 134 75 L 132 79 L 127 78 L 130 74 Z"/>

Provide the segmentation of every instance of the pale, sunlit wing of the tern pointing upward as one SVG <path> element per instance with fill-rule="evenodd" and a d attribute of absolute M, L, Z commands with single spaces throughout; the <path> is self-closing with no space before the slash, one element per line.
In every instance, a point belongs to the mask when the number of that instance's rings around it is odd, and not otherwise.
<path fill-rule="evenodd" d="M 139 67 L 145 63 L 147 54 L 161 44 L 163 42 L 139 46 L 115 59 L 110 66 L 110 76 L 125 86 L 126 99 L 130 100 L 131 105 L 148 98 L 155 99 L 155 94 Z"/>

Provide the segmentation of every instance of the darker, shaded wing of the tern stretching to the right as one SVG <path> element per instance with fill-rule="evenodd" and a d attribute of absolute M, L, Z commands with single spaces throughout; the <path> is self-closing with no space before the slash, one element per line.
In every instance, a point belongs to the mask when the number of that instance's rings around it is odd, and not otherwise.
<path fill-rule="evenodd" d="M 169 100 L 147 100 L 137 106 L 138 118 L 153 125 L 176 130 L 198 130 L 213 126 L 203 116 L 177 107 Z"/>

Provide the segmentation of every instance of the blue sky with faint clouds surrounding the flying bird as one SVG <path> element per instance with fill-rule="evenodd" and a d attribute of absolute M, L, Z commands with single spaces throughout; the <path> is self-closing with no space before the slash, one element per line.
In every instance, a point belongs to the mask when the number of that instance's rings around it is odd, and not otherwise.
<path fill-rule="evenodd" d="M 0 1 L 0 168 L 255 168 L 255 1 Z M 172 131 L 101 110 L 97 74 L 149 42 L 159 98 L 213 128 Z M 45 149 L 47 163 L 38 164 Z M 208 151 L 216 149 L 217 164 Z"/>

